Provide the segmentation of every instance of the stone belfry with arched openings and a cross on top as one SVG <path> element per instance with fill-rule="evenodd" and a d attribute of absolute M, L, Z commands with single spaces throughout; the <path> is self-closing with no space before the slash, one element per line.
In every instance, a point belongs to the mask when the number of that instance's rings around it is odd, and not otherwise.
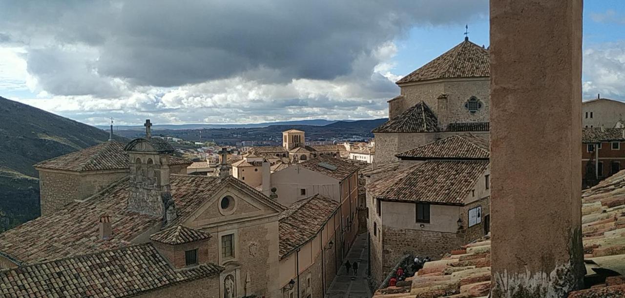
<path fill-rule="evenodd" d="M 134 139 L 124 150 L 130 158 L 128 210 L 173 220 L 176 216 L 169 186 L 169 154 L 174 151 L 162 139 L 150 136 L 146 121 L 146 138 Z"/>

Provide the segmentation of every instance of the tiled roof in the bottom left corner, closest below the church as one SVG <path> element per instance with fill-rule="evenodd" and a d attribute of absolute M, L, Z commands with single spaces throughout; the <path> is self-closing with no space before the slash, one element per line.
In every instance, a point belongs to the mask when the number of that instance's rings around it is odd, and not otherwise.
<path fill-rule="evenodd" d="M 223 267 L 174 270 L 151 244 L 138 244 L 0 271 L 2 297 L 126 297 L 202 277 Z"/>

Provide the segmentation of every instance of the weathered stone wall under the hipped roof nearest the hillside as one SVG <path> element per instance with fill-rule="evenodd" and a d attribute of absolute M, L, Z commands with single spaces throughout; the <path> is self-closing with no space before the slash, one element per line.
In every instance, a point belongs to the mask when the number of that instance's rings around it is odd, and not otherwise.
<path fill-rule="evenodd" d="M 42 169 L 39 171 L 41 216 L 52 214 L 74 200 L 93 196 L 126 175 L 126 171 L 70 174 Z"/>

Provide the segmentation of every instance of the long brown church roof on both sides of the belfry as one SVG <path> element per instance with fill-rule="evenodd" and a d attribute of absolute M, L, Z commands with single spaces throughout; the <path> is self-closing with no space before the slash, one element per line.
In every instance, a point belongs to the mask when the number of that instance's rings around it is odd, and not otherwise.
<path fill-rule="evenodd" d="M 278 202 L 232 176 L 171 175 L 170 182 L 178 217 L 169 226 L 184 222 L 227 183 L 255 194 L 259 201 L 277 212 L 284 210 Z M 161 224 L 160 218 L 126 210 L 128 188 L 126 177 L 87 201 L 68 204 L 50 216 L 37 217 L 3 232 L 0 234 L 0 254 L 31 264 L 127 246 L 146 229 Z M 111 216 L 113 235 L 107 240 L 99 237 L 101 214 Z"/>

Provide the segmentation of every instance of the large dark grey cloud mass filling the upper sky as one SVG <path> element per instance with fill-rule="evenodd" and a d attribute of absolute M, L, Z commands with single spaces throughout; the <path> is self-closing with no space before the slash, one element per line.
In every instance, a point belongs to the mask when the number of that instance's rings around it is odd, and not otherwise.
<path fill-rule="evenodd" d="M 43 89 L 112 96 L 114 78 L 171 87 L 247 74 L 271 82 L 370 76 L 384 42 L 415 24 L 464 24 L 487 13 L 487 1 L 14 1 L 0 10 L 11 12 L 0 37 L 11 31 L 38 50 L 28 70 Z M 354 69 L 362 57 L 372 60 L 368 73 Z"/>

